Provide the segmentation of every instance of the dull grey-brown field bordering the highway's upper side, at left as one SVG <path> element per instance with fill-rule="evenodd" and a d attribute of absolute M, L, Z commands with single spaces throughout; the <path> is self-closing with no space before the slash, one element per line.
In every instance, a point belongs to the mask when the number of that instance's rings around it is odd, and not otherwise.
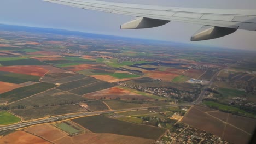
<path fill-rule="evenodd" d="M 87 112 L 79 105 L 56 105 L 56 106 L 42 106 L 42 107 L 25 107 L 24 109 L 11 109 L 11 112 L 21 116 L 25 120 L 50 117 L 56 115 L 63 115 L 75 112 Z"/>

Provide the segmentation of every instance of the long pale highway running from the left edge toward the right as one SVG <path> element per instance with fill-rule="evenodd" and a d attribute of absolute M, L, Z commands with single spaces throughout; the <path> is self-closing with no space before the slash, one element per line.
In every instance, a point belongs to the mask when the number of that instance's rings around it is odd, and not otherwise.
<path fill-rule="evenodd" d="M 177 106 L 189 106 L 189 105 L 191 105 L 191 104 L 187 103 L 187 104 L 181 104 L 181 105 L 164 105 L 164 106 L 153 106 L 153 107 L 139 107 L 139 108 L 125 109 L 125 110 L 86 112 L 86 113 L 76 113 L 76 114 L 70 114 L 70 115 L 67 114 L 67 115 L 49 117 L 49 118 L 40 119 L 40 120 L 36 120 L 36 121 L 31 121 L 31 122 L 24 122 L 24 123 L 18 123 L 18 124 L 13 124 L 13 125 L 2 126 L 2 127 L 0 127 L 0 131 L 14 130 L 14 129 L 22 128 L 22 127 L 28 127 L 28 126 L 31 126 L 31 125 L 42 124 L 42 123 L 50 123 L 50 122 L 53 122 L 53 121 L 58 121 L 60 119 L 75 118 L 75 117 L 80 117 L 80 116 L 100 115 L 100 114 L 113 113 L 113 112 L 143 110 L 143 109 L 158 108 L 158 107 L 177 107 Z"/>

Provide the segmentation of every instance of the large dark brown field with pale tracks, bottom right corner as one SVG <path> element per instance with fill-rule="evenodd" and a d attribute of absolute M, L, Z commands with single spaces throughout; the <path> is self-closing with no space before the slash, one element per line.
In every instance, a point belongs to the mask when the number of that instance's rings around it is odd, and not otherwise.
<path fill-rule="evenodd" d="M 216 112 L 218 112 L 218 114 Z M 247 143 L 249 137 L 251 137 L 252 129 L 247 129 L 247 124 L 253 124 L 254 127 L 256 125 L 254 119 L 233 116 L 229 113 L 223 113 L 196 105 L 190 108 L 189 112 L 182 119 L 182 122 L 195 128 L 209 131 L 214 135 L 223 137 L 225 140 L 237 144 Z M 254 128 L 252 125 L 251 127 Z M 247 131 L 244 129 L 247 129 Z"/>

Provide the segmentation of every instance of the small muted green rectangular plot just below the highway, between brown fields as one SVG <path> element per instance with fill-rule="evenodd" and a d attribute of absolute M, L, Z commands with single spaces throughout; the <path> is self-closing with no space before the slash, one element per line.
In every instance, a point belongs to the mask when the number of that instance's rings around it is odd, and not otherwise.
<path fill-rule="evenodd" d="M 57 128 L 65 131 L 69 135 L 80 133 L 82 131 L 81 129 L 79 129 L 77 127 L 74 127 L 74 125 L 71 125 L 71 124 L 69 124 L 67 122 L 56 123 L 55 125 L 56 125 Z"/>

